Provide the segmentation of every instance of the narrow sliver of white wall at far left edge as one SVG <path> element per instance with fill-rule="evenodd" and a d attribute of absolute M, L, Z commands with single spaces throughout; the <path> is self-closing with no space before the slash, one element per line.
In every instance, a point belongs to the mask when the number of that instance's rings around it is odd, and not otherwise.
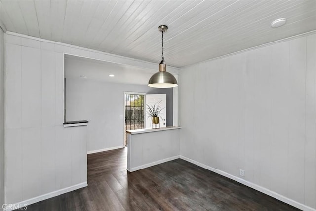
<path fill-rule="evenodd" d="M 4 33 L 0 28 L 0 206 L 4 196 Z"/>

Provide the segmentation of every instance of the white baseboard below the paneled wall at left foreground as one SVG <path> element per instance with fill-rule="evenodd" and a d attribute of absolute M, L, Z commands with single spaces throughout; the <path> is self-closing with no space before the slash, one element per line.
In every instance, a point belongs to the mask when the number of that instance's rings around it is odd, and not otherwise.
<path fill-rule="evenodd" d="M 83 188 L 86 186 L 88 186 L 87 182 L 82 182 L 82 183 L 79 183 L 77 185 L 73 185 L 71 187 L 63 188 L 63 189 L 56 190 L 56 191 L 53 191 L 50 193 L 46 193 L 46 194 L 31 198 L 31 199 L 24 200 L 24 201 L 19 202 L 19 203 L 15 203 L 12 206 L 8 206 L 8 208 L 4 209 L 3 211 L 12 211 L 12 210 L 15 210 L 17 208 L 22 208 L 22 210 L 24 210 L 23 207 L 25 207 L 25 206 L 27 207 L 28 205 L 34 204 L 36 202 L 40 202 L 40 201 L 45 200 L 45 199 L 59 196 L 61 194 L 68 193 L 70 191 L 77 190 L 79 188 Z"/>

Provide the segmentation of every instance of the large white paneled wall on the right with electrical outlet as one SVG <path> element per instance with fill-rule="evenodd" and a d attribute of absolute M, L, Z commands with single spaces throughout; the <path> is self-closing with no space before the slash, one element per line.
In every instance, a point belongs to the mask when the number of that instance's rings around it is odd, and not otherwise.
<path fill-rule="evenodd" d="M 180 155 L 316 208 L 316 35 L 181 68 Z M 280 194 L 280 195 L 278 195 Z"/>

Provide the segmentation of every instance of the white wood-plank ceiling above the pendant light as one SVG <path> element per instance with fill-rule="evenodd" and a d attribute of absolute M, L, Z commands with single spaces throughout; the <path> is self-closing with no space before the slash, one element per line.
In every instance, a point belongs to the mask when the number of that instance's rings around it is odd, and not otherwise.
<path fill-rule="evenodd" d="M 316 0 L 0 0 L 4 30 L 155 63 L 161 24 L 166 64 L 182 67 L 316 30 Z"/>

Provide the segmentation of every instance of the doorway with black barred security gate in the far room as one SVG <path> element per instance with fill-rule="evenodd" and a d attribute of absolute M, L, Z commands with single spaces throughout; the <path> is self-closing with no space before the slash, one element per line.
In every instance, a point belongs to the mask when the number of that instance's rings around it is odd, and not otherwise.
<path fill-rule="evenodd" d="M 125 93 L 124 146 L 127 146 L 126 130 L 145 128 L 145 94 Z"/>

